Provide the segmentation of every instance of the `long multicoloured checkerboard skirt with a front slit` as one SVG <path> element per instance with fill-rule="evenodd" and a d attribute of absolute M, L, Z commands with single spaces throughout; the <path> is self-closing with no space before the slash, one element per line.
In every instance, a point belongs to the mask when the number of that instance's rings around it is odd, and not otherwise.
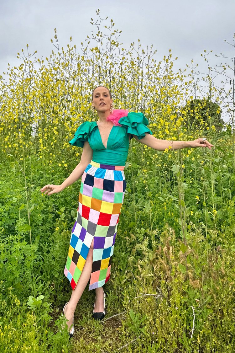
<path fill-rule="evenodd" d="M 94 239 L 89 291 L 110 278 L 111 258 L 117 234 L 126 181 L 124 166 L 91 161 L 81 179 L 77 219 L 69 243 L 64 275 L 75 289 Z"/>

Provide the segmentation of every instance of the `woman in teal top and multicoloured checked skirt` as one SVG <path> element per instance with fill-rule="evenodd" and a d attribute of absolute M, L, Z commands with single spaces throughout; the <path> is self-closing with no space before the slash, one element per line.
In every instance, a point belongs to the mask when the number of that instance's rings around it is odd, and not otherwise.
<path fill-rule="evenodd" d="M 61 185 L 46 185 L 40 191 L 52 195 L 73 184 L 80 177 L 79 207 L 72 229 L 64 274 L 73 292 L 64 306 L 70 337 L 73 335 L 73 316 L 76 305 L 88 283 L 95 289 L 93 317 L 105 315 L 103 285 L 109 280 L 111 257 L 115 244 L 120 209 L 126 187 L 124 166 L 132 137 L 156 150 L 213 146 L 205 138 L 194 141 L 159 140 L 147 127 L 142 113 L 113 110 L 111 92 L 98 86 L 92 92 L 92 108 L 98 121 L 82 123 L 69 142 L 83 147 L 81 160 Z"/>

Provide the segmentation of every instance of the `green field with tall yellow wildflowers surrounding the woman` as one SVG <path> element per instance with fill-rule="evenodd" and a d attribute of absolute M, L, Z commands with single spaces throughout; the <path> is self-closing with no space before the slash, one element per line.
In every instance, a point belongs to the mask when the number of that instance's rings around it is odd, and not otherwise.
<path fill-rule="evenodd" d="M 193 70 L 174 73 L 171 52 L 157 62 L 139 42 L 122 48 L 113 22 L 106 30 L 79 54 L 72 39 L 45 61 L 26 48 L 0 78 L 0 352 L 233 353 L 234 100 L 225 99 L 233 91 L 216 88 L 212 69 L 202 88 Z M 63 269 L 80 180 L 50 197 L 39 190 L 79 162 L 82 150 L 68 141 L 96 119 L 99 83 L 116 108 L 142 111 L 155 137 L 206 136 L 215 147 L 156 151 L 131 140 L 105 320 L 93 320 L 86 288 L 68 341 Z"/>

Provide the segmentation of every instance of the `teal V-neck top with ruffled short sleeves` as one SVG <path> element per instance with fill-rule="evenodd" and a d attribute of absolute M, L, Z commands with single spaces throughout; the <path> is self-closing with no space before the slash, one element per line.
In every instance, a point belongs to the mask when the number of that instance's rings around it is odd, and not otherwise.
<path fill-rule="evenodd" d="M 153 134 L 147 125 L 148 120 L 143 113 L 128 113 L 120 118 L 121 126 L 113 125 L 108 140 L 107 148 L 102 143 L 99 128 L 96 121 L 85 121 L 69 141 L 70 145 L 83 147 L 84 141 L 88 141 L 93 149 L 92 160 L 97 163 L 125 166 L 129 148 L 129 134 L 136 135 L 138 139 L 145 136 L 146 132 Z M 131 136 L 132 138 L 133 136 Z"/>

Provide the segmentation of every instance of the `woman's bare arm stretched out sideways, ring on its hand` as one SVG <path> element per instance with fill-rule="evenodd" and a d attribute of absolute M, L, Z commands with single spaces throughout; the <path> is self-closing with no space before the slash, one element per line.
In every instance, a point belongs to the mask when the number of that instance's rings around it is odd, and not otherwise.
<path fill-rule="evenodd" d="M 166 148 L 170 148 L 173 150 L 179 150 L 181 148 L 195 148 L 195 147 L 208 147 L 211 150 L 211 147 L 214 147 L 210 142 L 207 140 L 203 141 L 202 138 L 198 138 L 197 140 L 193 141 L 169 141 L 169 140 L 159 140 L 158 138 L 146 133 L 145 137 L 141 138 L 140 140 L 136 135 L 133 135 L 134 138 L 147 145 L 151 148 L 154 148 L 158 151 L 165 151 Z"/>

